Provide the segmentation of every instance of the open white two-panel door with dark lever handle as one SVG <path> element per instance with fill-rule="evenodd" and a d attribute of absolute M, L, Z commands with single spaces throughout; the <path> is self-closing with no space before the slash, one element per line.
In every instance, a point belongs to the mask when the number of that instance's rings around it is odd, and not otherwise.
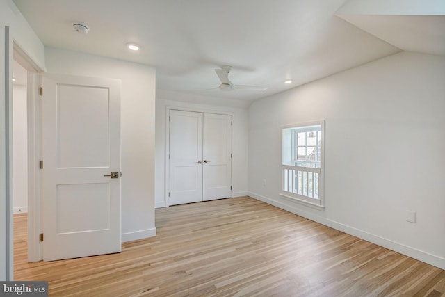
<path fill-rule="evenodd" d="M 120 80 L 45 74 L 43 93 L 43 259 L 120 252 Z"/>

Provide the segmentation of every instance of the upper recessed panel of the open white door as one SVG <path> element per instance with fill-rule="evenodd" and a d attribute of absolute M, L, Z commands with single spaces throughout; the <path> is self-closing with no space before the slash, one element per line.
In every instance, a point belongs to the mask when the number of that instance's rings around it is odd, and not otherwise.
<path fill-rule="evenodd" d="M 57 104 L 58 168 L 109 166 L 108 89 L 58 86 Z"/>

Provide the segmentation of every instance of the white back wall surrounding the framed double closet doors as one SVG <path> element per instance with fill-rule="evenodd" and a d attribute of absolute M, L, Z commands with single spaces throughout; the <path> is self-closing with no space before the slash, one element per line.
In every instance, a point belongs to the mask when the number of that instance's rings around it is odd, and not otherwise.
<path fill-rule="evenodd" d="M 174 99 L 156 98 L 156 207 L 165 207 L 165 115 L 167 106 L 189 111 L 207 111 L 232 114 L 232 196 L 247 195 L 248 188 L 248 117 L 247 109 L 241 107 L 223 107 L 210 104 L 192 104 Z"/>

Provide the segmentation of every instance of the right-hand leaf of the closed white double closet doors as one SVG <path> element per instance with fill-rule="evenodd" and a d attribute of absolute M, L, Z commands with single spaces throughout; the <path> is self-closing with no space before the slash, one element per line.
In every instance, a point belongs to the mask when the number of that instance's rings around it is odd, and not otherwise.
<path fill-rule="evenodd" d="M 204 113 L 202 200 L 232 195 L 232 116 Z"/>

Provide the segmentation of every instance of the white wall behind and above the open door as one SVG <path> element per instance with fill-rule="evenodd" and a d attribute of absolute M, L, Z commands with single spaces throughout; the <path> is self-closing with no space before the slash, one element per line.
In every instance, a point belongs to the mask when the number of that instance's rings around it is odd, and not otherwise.
<path fill-rule="evenodd" d="M 156 235 L 154 225 L 154 67 L 46 49 L 49 73 L 122 80 L 122 241 Z"/>

